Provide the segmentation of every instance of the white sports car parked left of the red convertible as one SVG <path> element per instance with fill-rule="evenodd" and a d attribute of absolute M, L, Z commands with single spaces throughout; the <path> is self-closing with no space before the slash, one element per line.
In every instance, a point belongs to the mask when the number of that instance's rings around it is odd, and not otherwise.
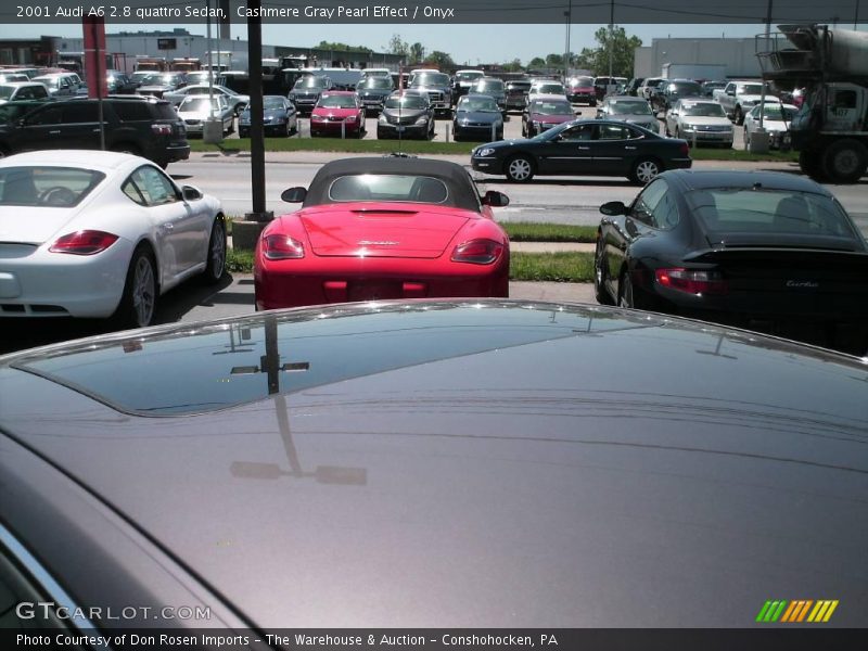
<path fill-rule="evenodd" d="M 226 266 L 220 203 L 151 161 L 52 150 L 0 159 L 0 318 L 111 318 L 138 328 L 157 297 Z"/>

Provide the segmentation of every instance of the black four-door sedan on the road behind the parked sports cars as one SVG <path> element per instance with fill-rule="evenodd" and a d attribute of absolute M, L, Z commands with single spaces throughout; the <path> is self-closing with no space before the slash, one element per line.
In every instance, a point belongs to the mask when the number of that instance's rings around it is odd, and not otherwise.
<path fill-rule="evenodd" d="M 625 176 L 641 184 L 665 169 L 692 165 L 686 140 L 608 119 L 577 119 L 535 138 L 482 144 L 470 162 L 477 171 L 516 182 L 535 175 Z"/>

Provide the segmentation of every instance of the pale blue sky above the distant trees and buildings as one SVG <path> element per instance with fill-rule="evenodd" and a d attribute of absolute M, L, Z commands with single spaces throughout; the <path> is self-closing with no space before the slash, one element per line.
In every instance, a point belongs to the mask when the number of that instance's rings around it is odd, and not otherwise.
<path fill-rule="evenodd" d="M 182 25 L 193 34 L 205 33 L 204 25 Z M 107 31 L 167 29 L 166 25 L 107 25 Z M 319 29 L 317 27 L 320 27 Z M 584 47 L 595 47 L 593 33 L 601 25 L 573 25 L 571 47 L 579 52 Z M 850 26 L 852 27 L 852 25 Z M 763 30 L 762 25 L 624 25 L 628 35 L 636 35 L 644 44 L 652 38 L 666 37 L 752 37 Z M 246 29 L 233 26 L 234 36 L 246 39 Z M 512 61 L 526 63 L 534 56 L 562 53 L 566 46 L 565 25 L 266 25 L 263 27 L 265 44 L 311 47 L 321 40 L 367 46 L 385 50 L 393 34 L 409 43 L 421 42 L 426 51 L 448 52 L 457 63 L 476 64 Z M 47 36 L 80 37 L 78 25 L 0 25 L 0 37 L 28 38 Z"/>

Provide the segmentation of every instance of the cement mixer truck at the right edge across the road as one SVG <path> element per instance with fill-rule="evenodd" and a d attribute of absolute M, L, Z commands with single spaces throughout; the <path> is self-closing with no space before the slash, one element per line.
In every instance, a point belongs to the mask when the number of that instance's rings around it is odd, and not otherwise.
<path fill-rule="evenodd" d="M 868 33 L 827 25 L 778 29 L 757 56 L 765 79 L 804 88 L 790 125 L 799 165 L 817 180 L 855 183 L 868 168 Z"/>

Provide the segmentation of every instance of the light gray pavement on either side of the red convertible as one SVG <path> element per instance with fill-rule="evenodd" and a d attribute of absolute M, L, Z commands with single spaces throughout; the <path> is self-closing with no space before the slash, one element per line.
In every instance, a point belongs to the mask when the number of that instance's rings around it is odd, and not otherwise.
<path fill-rule="evenodd" d="M 571 282 L 511 282 L 511 298 L 546 301 L 551 303 L 591 303 L 593 285 Z M 206 296 L 191 296 L 190 292 L 169 292 L 163 297 L 158 320 L 161 322 L 202 321 L 251 314 L 253 309 L 253 276 L 235 273 L 231 282 L 218 292 Z M 197 301 L 196 301 L 197 298 Z"/>

